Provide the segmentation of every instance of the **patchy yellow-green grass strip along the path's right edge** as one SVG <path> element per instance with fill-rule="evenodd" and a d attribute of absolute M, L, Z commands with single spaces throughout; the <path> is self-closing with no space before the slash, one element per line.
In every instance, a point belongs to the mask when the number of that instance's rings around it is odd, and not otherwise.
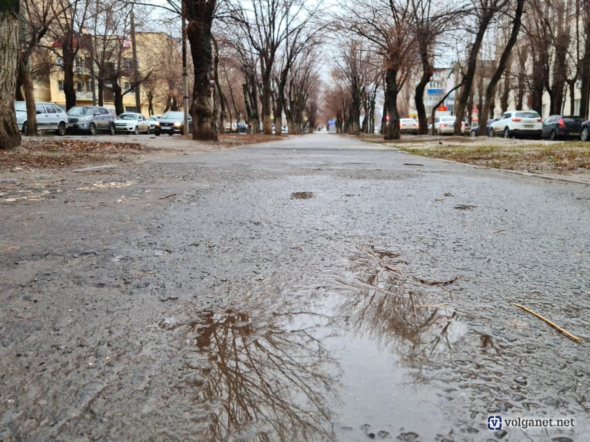
<path fill-rule="evenodd" d="M 496 169 L 528 170 L 539 173 L 566 173 L 590 170 L 590 143 L 532 143 L 521 145 L 458 145 L 403 147 L 415 155 L 477 164 Z"/>

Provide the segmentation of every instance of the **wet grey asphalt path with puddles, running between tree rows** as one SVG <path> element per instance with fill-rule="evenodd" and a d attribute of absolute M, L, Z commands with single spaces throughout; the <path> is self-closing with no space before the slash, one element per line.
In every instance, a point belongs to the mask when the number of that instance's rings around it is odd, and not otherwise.
<path fill-rule="evenodd" d="M 330 134 L 0 181 L 0 441 L 590 440 L 590 186 Z"/>

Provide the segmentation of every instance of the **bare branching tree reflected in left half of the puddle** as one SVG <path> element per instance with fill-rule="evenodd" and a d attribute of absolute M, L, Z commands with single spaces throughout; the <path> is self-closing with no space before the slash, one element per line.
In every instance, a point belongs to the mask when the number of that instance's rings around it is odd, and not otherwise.
<path fill-rule="evenodd" d="M 178 386 L 211 410 L 202 440 L 334 440 L 338 368 L 323 344 L 331 321 L 309 312 L 205 311 L 192 321 L 160 323 L 207 357 L 189 364 Z"/>

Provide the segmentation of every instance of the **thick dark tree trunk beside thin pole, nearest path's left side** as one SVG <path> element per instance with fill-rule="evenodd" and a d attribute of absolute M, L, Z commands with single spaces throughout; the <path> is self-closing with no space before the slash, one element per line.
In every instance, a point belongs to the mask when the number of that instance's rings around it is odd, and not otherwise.
<path fill-rule="evenodd" d="M 188 19 L 186 37 L 191 44 L 195 72 L 191 104 L 192 138 L 194 140 L 217 141 L 213 108 L 215 81 L 211 78 L 213 65 L 211 22 L 215 10 L 215 0 L 186 0 L 185 7 Z"/>

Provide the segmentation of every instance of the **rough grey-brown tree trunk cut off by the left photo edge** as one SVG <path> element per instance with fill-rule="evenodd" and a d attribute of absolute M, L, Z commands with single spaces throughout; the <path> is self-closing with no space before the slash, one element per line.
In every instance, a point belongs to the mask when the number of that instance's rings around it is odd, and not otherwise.
<path fill-rule="evenodd" d="M 17 90 L 19 1 L 7 0 L 0 10 L 0 149 L 20 146 L 14 112 Z"/>

